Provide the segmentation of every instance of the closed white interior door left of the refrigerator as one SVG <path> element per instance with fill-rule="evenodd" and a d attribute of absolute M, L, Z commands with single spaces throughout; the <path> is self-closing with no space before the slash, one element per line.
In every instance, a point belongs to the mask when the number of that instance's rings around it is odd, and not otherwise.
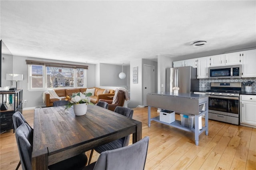
<path fill-rule="evenodd" d="M 155 92 L 155 66 L 144 64 L 144 107 L 147 106 L 147 93 Z"/>

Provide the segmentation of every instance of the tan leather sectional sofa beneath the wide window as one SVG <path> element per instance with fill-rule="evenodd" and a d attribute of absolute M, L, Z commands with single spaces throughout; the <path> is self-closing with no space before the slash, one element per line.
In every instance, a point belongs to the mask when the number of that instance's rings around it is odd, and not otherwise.
<path fill-rule="evenodd" d="M 95 89 L 95 91 L 93 89 Z M 90 92 L 94 91 L 94 94 L 92 94 L 92 96 L 90 96 L 91 102 L 94 104 L 98 103 L 98 101 L 100 99 L 113 100 L 113 97 L 115 95 L 114 90 L 100 89 L 97 87 L 79 88 L 79 89 L 54 89 L 56 94 L 59 97 L 62 97 L 61 100 L 65 100 L 65 97 L 72 95 L 72 93 L 85 92 L 86 90 L 90 91 Z M 103 92 L 104 92 L 104 94 L 103 94 Z M 44 92 L 43 95 L 44 95 L 44 104 L 46 105 L 46 107 L 51 107 L 51 106 L 53 106 L 54 101 L 60 100 L 58 98 L 50 98 L 50 93 L 48 91 Z"/>

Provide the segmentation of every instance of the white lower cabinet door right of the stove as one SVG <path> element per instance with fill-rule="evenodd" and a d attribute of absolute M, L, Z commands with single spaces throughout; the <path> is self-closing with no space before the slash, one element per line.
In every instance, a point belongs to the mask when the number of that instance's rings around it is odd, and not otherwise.
<path fill-rule="evenodd" d="M 253 101 L 242 101 L 241 105 L 241 123 L 256 125 L 256 103 Z"/>

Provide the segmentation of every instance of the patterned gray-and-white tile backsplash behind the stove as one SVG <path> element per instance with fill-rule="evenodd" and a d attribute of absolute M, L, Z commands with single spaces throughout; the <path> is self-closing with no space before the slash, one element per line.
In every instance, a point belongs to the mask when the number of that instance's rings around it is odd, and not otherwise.
<path fill-rule="evenodd" d="M 241 79 L 200 79 L 199 80 L 199 90 L 208 90 L 211 88 L 211 82 L 246 82 L 254 81 L 252 84 L 252 92 L 256 92 L 256 77 L 251 78 L 241 78 Z M 202 87 L 204 84 L 204 87 Z M 242 84 L 242 91 L 245 91 L 245 86 Z"/>

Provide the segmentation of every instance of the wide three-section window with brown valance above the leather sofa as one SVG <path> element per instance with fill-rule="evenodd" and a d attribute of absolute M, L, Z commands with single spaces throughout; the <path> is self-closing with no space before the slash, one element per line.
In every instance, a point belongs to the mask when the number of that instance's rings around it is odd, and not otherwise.
<path fill-rule="evenodd" d="M 54 65 L 39 61 L 26 61 L 29 77 L 28 89 L 86 87 L 88 66 Z"/>

